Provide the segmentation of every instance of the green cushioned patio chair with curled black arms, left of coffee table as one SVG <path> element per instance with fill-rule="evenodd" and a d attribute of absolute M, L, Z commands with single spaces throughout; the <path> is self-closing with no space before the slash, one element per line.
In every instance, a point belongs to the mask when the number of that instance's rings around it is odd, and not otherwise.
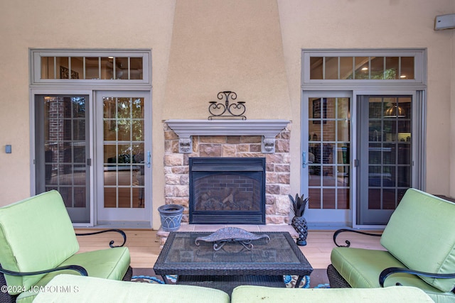
<path fill-rule="evenodd" d="M 123 243 L 77 253 L 76 236 L 115 231 Z M 68 273 L 131 280 L 123 231 L 75 233 L 60 194 L 52 190 L 0 207 L 0 302 L 32 302 L 55 275 Z"/>

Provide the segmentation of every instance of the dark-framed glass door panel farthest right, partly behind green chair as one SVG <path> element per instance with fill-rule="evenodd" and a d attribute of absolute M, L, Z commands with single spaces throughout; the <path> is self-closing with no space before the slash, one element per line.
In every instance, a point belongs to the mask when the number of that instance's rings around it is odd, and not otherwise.
<path fill-rule="evenodd" d="M 358 223 L 385 225 L 412 184 L 412 97 L 359 97 Z"/>

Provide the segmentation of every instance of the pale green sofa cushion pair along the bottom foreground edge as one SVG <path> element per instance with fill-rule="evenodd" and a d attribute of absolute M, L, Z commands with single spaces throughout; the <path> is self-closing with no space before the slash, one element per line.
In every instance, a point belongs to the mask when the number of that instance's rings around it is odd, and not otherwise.
<path fill-rule="evenodd" d="M 304 289 L 262 286 L 236 287 L 231 297 L 226 292 L 193 285 L 163 285 L 123 282 L 58 275 L 48 288 L 36 296 L 35 303 L 91 302 L 166 302 L 166 303 L 432 303 L 422 290 L 415 287 L 386 287 L 372 289 Z"/>

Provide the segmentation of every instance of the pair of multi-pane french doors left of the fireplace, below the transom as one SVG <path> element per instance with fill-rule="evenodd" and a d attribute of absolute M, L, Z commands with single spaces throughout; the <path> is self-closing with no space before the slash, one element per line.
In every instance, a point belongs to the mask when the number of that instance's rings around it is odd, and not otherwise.
<path fill-rule="evenodd" d="M 149 92 L 36 94 L 36 194 L 60 192 L 75 224 L 151 226 L 150 103 Z"/>

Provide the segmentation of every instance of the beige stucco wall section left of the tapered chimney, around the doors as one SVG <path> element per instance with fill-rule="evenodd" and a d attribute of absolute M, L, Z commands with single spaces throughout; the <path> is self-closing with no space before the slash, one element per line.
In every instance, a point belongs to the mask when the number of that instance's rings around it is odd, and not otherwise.
<path fill-rule="evenodd" d="M 176 1 L 1 1 L 0 205 L 30 196 L 29 48 L 148 48 L 153 60 L 154 140 L 162 142 L 166 87 Z M 13 153 L 6 154 L 4 145 Z M 161 145 L 154 163 L 162 181 Z M 160 159 L 160 160 L 158 160 Z M 160 167 L 161 166 L 161 167 Z M 160 192 L 162 197 L 162 190 Z M 159 220 L 158 220 L 159 221 Z"/>

